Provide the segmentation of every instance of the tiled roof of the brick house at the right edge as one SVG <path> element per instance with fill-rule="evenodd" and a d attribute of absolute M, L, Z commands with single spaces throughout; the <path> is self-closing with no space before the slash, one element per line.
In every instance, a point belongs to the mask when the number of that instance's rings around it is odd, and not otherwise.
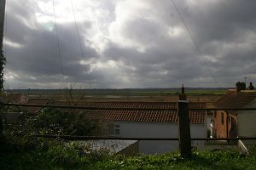
<path fill-rule="evenodd" d="M 239 93 L 227 93 L 215 103 L 218 108 L 244 108 L 256 99 L 255 91 L 244 91 Z"/>

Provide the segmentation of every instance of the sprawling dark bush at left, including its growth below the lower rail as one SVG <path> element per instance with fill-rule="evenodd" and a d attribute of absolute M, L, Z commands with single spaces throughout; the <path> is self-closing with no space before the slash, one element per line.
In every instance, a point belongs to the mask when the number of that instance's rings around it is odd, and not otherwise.
<path fill-rule="evenodd" d="M 91 135 L 96 123 L 89 122 L 84 114 L 55 109 L 44 109 L 37 116 L 23 114 L 15 125 L 5 125 L 0 151 L 45 149 L 51 143 L 61 142 L 36 138 L 34 134 Z"/>

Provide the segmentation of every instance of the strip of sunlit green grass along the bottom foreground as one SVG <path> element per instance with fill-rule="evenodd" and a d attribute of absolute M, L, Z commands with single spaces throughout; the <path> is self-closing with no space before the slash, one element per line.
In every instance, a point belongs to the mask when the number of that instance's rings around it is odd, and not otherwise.
<path fill-rule="evenodd" d="M 47 149 L 1 152 L 0 158 L 0 169 L 256 169 L 255 151 L 241 156 L 236 150 L 194 151 L 191 159 L 183 159 L 177 151 L 125 157 L 54 144 Z"/>

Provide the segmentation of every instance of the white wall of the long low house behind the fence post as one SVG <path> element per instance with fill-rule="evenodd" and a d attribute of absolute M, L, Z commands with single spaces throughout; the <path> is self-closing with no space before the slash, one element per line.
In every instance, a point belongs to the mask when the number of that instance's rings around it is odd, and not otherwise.
<path fill-rule="evenodd" d="M 115 122 L 119 124 L 120 137 L 135 138 L 178 138 L 177 123 L 174 122 Z M 204 124 L 190 124 L 192 138 L 206 138 Z M 204 141 L 192 141 L 192 146 L 204 148 Z M 177 141 L 139 141 L 139 151 L 143 154 L 161 154 L 178 149 Z"/>

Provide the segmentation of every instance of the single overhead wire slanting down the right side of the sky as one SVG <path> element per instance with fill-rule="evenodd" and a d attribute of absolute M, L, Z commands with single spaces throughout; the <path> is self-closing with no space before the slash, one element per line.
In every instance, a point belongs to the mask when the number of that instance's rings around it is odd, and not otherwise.
<path fill-rule="evenodd" d="M 205 65 L 207 66 L 207 69 L 209 70 L 209 72 L 210 72 L 210 74 L 211 74 L 211 76 L 212 76 L 213 81 L 217 84 L 217 86 L 218 86 L 218 88 L 219 88 L 218 81 L 217 81 L 216 77 L 214 76 L 210 65 L 207 63 L 207 60 L 204 58 L 204 56 L 203 56 L 203 54 L 202 54 L 202 52 L 201 52 L 201 49 L 199 48 L 199 46 L 198 46 L 197 43 L 195 42 L 194 37 L 192 36 L 191 32 L 189 31 L 189 26 L 187 26 L 185 20 L 183 20 L 183 16 L 182 16 L 182 14 L 180 13 L 180 11 L 178 10 L 177 5 L 174 3 L 174 0 L 172 0 L 172 4 L 173 4 L 174 8 L 177 10 L 177 14 L 179 15 L 180 19 L 181 19 L 182 22 L 183 22 L 183 25 L 185 26 L 186 30 L 188 31 L 189 37 L 191 38 L 192 42 L 194 43 L 195 48 L 197 49 L 197 51 L 198 51 L 198 53 L 201 55 L 201 58 L 203 59 Z"/>

